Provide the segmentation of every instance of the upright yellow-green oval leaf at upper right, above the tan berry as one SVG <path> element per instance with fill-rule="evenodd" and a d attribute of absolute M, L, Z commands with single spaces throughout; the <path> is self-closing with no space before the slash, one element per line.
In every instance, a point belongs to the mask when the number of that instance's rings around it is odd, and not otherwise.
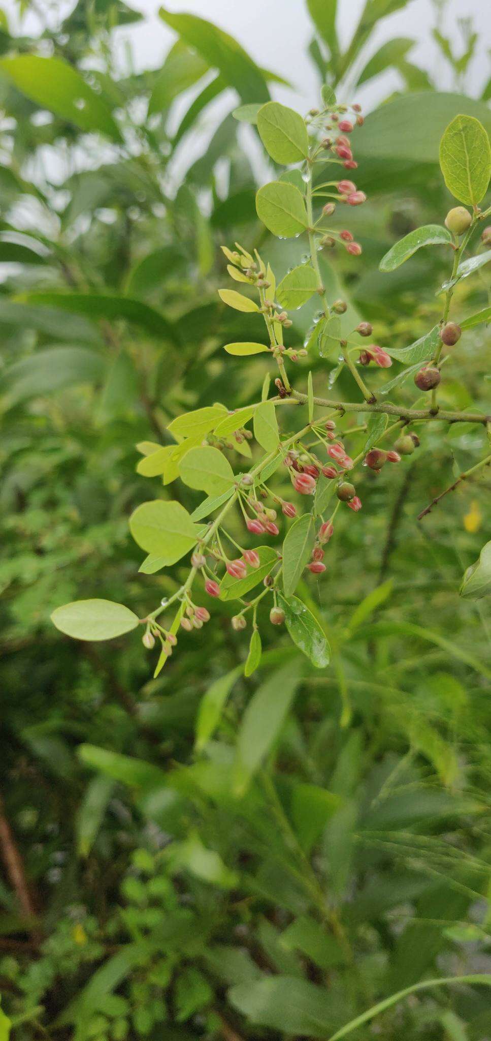
<path fill-rule="evenodd" d="M 486 195 L 491 177 L 488 134 L 472 116 L 456 116 L 440 142 L 443 179 L 459 202 L 476 206 Z"/>

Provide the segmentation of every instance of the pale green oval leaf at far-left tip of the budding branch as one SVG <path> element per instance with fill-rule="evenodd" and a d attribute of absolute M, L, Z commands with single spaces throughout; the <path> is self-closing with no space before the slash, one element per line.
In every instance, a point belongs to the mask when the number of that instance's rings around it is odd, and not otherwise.
<path fill-rule="evenodd" d="M 138 616 L 111 600 L 75 600 L 57 607 L 51 620 L 60 633 L 76 640 L 112 640 L 138 625 Z"/>

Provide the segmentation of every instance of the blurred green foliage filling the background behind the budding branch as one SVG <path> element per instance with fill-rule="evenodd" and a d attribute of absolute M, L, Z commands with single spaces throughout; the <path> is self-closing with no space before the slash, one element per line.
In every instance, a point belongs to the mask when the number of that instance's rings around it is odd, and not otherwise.
<path fill-rule="evenodd" d="M 376 50 L 370 32 L 336 72 L 309 6 L 299 18 L 316 41 L 318 82 L 340 78 L 351 97 L 353 60 L 363 68 Z M 370 0 L 373 28 L 405 6 Z M 61 25 L 54 16 L 41 40 L 24 23 L 11 39 L 3 21 L 2 54 L 61 57 L 106 115 L 102 134 L 84 133 L 73 97 L 70 118 L 59 115 L 49 75 L 32 101 L 0 68 L 2 848 L 8 822 L 21 863 L 17 886 L 8 868 L 0 886 L 2 1008 L 21 1041 L 329 1037 L 399 988 L 489 971 L 490 620 L 458 596 L 487 537 L 486 482 L 416 522 L 480 458 L 484 435 L 459 427 L 443 437 L 435 425 L 395 474 L 366 473 L 363 512 L 337 526 L 327 578 L 304 589 L 335 650 L 325 672 L 313 676 L 263 618 L 261 669 L 246 681 L 248 634 L 231 630 L 223 607 L 155 681 L 135 635 L 94 648 L 56 633 L 50 612 L 72 599 L 107 596 L 143 615 L 176 588 L 179 567 L 137 574 L 127 517 L 148 486 L 134 445 L 164 441 L 184 409 L 257 399 L 262 360 L 221 351 L 247 335 L 247 316 L 230 318 L 216 297 L 219 245 L 260 247 L 279 276 L 299 256 L 255 217 L 268 167 L 254 131 L 222 113 L 197 155 L 211 117 L 192 102 L 215 75 L 202 55 L 181 40 L 161 72 L 122 77 L 111 33 L 137 24 L 125 4 L 79 0 Z M 438 250 L 400 275 L 378 263 L 450 205 L 441 132 L 458 111 L 490 126 L 489 86 L 464 96 L 477 37 L 453 33 L 450 50 L 445 39 L 435 41 L 444 82 L 391 49 L 397 90 L 381 91 L 390 104 L 356 136 L 369 203 L 351 227 L 363 262 L 335 256 L 325 269 L 382 345 L 405 346 L 438 319 Z M 289 75 L 273 50 L 270 64 Z M 230 112 L 237 94 L 257 99 L 228 70 L 216 90 L 233 86 Z M 463 283 L 459 313 L 484 306 L 486 293 L 481 278 Z M 295 312 L 292 335 L 310 322 L 309 306 Z M 325 362 L 313 367 L 325 389 Z M 488 370 L 479 328 L 442 401 L 484 407 Z M 352 392 L 341 381 L 339 393 Z M 210 688 L 223 713 L 197 752 Z M 235 744 L 258 688 L 266 702 L 289 690 L 292 709 L 239 796 Z M 387 1038 L 485 1041 L 489 996 L 422 992 L 376 1023 Z"/>

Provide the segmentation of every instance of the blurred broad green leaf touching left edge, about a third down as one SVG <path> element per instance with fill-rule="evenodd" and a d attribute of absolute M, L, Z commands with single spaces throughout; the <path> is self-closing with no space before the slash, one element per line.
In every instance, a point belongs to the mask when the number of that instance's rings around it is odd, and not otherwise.
<path fill-rule="evenodd" d="M 4 406 L 53 393 L 79 383 L 99 383 L 106 369 L 104 358 L 83 347 L 53 347 L 16 361 L 4 370 Z"/>

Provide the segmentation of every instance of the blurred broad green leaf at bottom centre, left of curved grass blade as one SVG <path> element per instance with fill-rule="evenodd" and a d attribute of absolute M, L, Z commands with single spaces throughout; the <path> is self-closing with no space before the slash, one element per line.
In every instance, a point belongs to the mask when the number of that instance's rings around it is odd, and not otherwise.
<path fill-rule="evenodd" d="M 228 998 L 253 1024 L 288 1037 L 325 1038 L 333 1020 L 339 1022 L 338 999 L 296 976 L 263 976 L 239 984 L 229 990 Z"/>

